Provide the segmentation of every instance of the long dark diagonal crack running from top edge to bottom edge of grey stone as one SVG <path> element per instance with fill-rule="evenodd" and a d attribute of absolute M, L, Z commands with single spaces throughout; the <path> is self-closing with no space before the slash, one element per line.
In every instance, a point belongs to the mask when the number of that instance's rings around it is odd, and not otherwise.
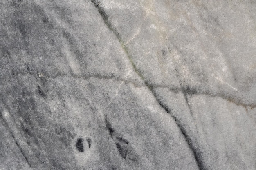
<path fill-rule="evenodd" d="M 115 34 L 116 38 L 119 40 L 122 48 L 124 49 L 124 52 L 126 53 L 126 55 L 128 56 L 134 71 L 137 73 L 137 75 L 139 75 L 139 77 L 141 77 L 141 79 L 144 81 L 145 85 L 148 87 L 148 89 L 153 93 L 155 99 L 157 100 L 158 104 L 164 109 L 166 110 L 167 113 L 169 113 L 173 119 L 175 120 L 177 126 L 179 127 L 180 131 L 182 132 L 182 135 L 184 136 L 184 138 L 186 139 L 187 144 L 189 145 L 189 148 L 192 150 L 193 155 L 195 157 L 196 163 L 198 165 L 198 168 L 200 170 L 206 170 L 205 166 L 203 165 L 202 162 L 202 158 L 200 156 L 200 151 L 198 151 L 197 147 L 193 144 L 193 142 L 191 141 L 189 135 L 187 134 L 186 130 L 183 128 L 183 126 L 179 123 L 179 120 L 177 119 L 177 117 L 175 117 L 173 114 L 171 114 L 171 110 L 168 109 L 167 106 L 164 106 L 164 104 L 162 104 L 162 102 L 159 100 L 159 98 L 157 97 L 155 91 L 153 90 L 153 86 L 145 80 L 144 76 L 140 73 L 139 69 L 137 68 L 137 66 L 135 65 L 135 63 L 132 60 L 132 57 L 129 55 L 128 53 L 128 49 L 126 48 L 126 46 L 124 45 L 123 40 L 121 39 L 120 34 L 117 32 L 117 30 L 115 29 L 115 27 L 111 24 L 111 22 L 108 20 L 108 15 L 106 14 L 105 10 L 103 9 L 103 7 L 101 6 L 101 2 L 99 2 L 98 0 L 91 0 L 91 2 L 94 4 L 94 6 L 98 9 L 102 19 L 104 20 L 104 23 L 106 24 L 106 26 Z"/>

